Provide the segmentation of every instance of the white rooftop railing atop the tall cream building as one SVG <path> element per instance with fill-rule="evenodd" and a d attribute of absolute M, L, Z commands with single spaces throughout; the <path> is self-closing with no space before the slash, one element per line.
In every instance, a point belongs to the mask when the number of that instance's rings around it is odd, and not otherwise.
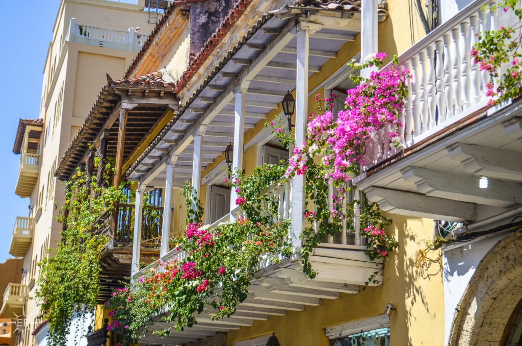
<path fill-rule="evenodd" d="M 75 18 L 71 18 L 67 37 L 71 42 L 139 52 L 149 36 L 134 28 L 105 28 L 77 23 Z"/>

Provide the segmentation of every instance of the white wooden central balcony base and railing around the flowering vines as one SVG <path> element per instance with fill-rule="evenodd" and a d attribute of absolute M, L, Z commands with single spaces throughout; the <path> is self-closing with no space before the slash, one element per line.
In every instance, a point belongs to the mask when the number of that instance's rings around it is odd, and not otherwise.
<path fill-rule="evenodd" d="M 289 215 L 290 184 L 276 183 L 264 194 L 274 196 L 278 201 L 278 218 L 282 220 Z M 243 212 L 236 208 L 230 214 L 224 215 L 220 220 L 208 226 L 212 230 L 220 224 L 229 223 L 244 216 Z M 350 218 L 351 222 L 355 220 Z M 348 221 L 348 220 L 347 220 Z M 356 230 L 359 227 L 354 227 Z M 290 231 L 291 232 L 291 231 Z M 357 243 L 358 245 L 354 245 Z M 337 299 L 340 293 L 356 294 L 359 287 L 368 281 L 374 272 L 378 283 L 370 283 L 371 286 L 382 284 L 383 260 L 370 261 L 364 254 L 366 248 L 361 244 L 359 234 L 350 233 L 344 223 L 341 232 L 336 237 L 328 237 L 325 243 L 319 246 L 310 255 L 312 268 L 318 272 L 314 279 L 308 278 L 302 271 L 302 258 L 294 255 L 290 258 L 280 258 L 277 263 L 260 261 L 257 272 L 248 287 L 247 299 L 240 303 L 234 316 L 219 320 L 212 320 L 212 309 L 206 308 L 196 316 L 197 324 L 192 328 L 186 328 L 183 332 L 172 332 L 164 343 L 188 343 L 201 338 L 206 338 L 217 332 L 226 332 L 239 329 L 241 326 L 252 326 L 254 320 L 266 320 L 270 315 L 282 316 L 287 310 L 301 311 L 305 306 L 318 306 L 321 299 Z M 295 253 L 299 253 L 298 248 Z M 186 257 L 184 251 L 173 249 L 161 261 L 183 261 Z M 135 277 L 144 275 L 152 268 L 158 266 L 153 262 L 148 267 L 139 271 Z M 165 322 L 160 318 L 151 321 L 149 330 L 158 330 L 165 327 Z M 154 343 L 160 339 L 151 332 L 140 342 Z"/>

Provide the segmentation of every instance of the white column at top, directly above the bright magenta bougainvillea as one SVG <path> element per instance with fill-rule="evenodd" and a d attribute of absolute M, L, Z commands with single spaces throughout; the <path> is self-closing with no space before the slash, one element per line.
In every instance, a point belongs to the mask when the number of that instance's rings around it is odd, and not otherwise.
<path fill-rule="evenodd" d="M 363 63 L 366 56 L 376 53 L 378 49 L 377 0 L 364 0 L 362 2 L 361 18 L 361 62 Z M 377 71 L 377 67 L 365 68 L 361 71 L 361 76 L 370 77 L 372 71 Z"/>

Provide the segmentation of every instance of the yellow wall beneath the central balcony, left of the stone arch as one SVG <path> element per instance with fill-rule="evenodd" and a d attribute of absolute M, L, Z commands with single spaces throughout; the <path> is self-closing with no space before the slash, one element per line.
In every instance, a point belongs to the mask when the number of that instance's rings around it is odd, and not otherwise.
<path fill-rule="evenodd" d="M 396 310 L 390 317 L 392 345 L 434 346 L 444 344 L 444 303 L 442 274 L 437 263 L 431 276 L 421 277 L 414 267 L 415 252 L 424 248 L 422 239 L 431 238 L 430 220 L 393 216 L 389 230 L 399 241 L 399 250 L 385 261 L 383 285 L 368 287 L 357 294 L 341 294 L 340 298 L 322 299 L 321 305 L 306 306 L 302 312 L 288 311 L 284 316 L 270 316 L 254 321 L 227 335 L 227 345 L 235 341 L 274 332 L 281 345 L 326 346 L 324 328 L 381 315 L 388 303 Z M 435 258 L 436 254 L 430 257 Z"/>

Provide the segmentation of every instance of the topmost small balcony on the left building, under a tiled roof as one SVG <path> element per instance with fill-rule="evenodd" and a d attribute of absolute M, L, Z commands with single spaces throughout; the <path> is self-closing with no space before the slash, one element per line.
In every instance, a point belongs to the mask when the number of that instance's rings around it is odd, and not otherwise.
<path fill-rule="evenodd" d="M 20 170 L 16 182 L 15 193 L 20 197 L 31 197 L 38 180 L 40 168 L 40 134 L 42 128 L 27 126 L 20 153 Z"/>

